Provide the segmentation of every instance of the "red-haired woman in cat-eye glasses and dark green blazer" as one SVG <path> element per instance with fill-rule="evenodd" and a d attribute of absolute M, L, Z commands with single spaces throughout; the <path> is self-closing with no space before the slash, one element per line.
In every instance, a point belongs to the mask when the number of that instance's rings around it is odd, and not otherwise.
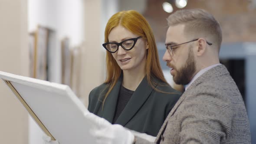
<path fill-rule="evenodd" d="M 181 93 L 167 84 L 151 27 L 134 10 L 105 28 L 107 77 L 89 95 L 90 112 L 112 124 L 156 136 Z"/>

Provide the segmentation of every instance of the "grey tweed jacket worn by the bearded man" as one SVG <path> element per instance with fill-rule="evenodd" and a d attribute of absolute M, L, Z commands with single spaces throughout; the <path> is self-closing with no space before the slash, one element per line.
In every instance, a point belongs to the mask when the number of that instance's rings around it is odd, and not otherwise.
<path fill-rule="evenodd" d="M 250 144 L 242 96 L 224 65 L 203 73 L 184 92 L 162 125 L 157 144 Z M 138 138 L 136 144 L 150 144 Z"/>

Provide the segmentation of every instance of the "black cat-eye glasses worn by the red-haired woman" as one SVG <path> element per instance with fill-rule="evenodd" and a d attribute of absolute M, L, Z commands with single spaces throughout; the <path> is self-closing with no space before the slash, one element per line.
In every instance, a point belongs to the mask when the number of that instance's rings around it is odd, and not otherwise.
<path fill-rule="evenodd" d="M 139 36 L 137 38 L 132 38 L 132 39 L 126 39 L 122 41 L 121 43 L 103 43 L 102 46 L 111 53 L 115 53 L 118 51 L 118 47 L 121 46 L 125 50 L 131 50 L 138 39 L 142 38 L 142 36 Z"/>

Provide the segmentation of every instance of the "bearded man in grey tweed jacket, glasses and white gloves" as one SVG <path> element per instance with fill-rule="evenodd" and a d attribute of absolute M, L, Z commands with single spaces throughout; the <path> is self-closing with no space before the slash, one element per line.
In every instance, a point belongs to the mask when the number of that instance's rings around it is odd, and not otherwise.
<path fill-rule="evenodd" d="M 220 64 L 220 24 L 205 10 L 179 10 L 167 18 L 166 52 L 174 82 L 187 85 L 161 127 L 157 144 L 250 144 L 240 92 Z M 85 113 L 98 124 L 97 144 L 150 144 L 120 125 Z M 145 120 L 146 121 L 146 120 Z M 148 139 L 148 138 L 146 138 Z"/>

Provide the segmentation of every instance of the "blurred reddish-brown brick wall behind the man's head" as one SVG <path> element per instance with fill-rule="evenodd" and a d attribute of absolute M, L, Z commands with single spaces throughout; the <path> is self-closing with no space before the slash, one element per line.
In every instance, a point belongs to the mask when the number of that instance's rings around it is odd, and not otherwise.
<path fill-rule="evenodd" d="M 167 30 L 166 13 L 162 8 L 165 0 L 148 0 L 142 13 L 155 34 L 157 42 L 164 42 Z M 173 0 L 174 1 L 174 0 Z M 184 9 L 202 8 L 212 13 L 220 22 L 223 42 L 256 42 L 256 8 L 249 9 L 250 0 L 187 0 Z M 174 11 L 179 10 L 171 3 Z"/>

